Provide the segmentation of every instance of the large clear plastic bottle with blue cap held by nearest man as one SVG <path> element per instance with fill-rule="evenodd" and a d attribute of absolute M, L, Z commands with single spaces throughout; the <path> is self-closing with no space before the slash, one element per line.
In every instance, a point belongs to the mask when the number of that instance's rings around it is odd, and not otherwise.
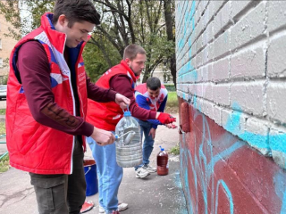
<path fill-rule="evenodd" d="M 115 127 L 115 146 L 116 162 L 120 167 L 130 168 L 142 163 L 140 126 L 130 111 L 124 111 Z"/>

